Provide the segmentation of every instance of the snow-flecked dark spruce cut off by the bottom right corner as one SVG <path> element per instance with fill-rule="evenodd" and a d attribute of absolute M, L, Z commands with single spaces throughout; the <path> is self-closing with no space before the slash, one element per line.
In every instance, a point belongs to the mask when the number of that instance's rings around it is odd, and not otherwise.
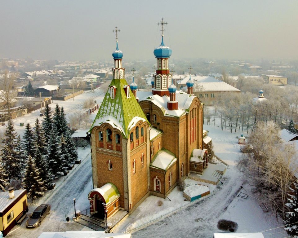
<path fill-rule="evenodd" d="M 289 212 L 285 214 L 285 230 L 290 236 L 298 236 L 298 180 L 293 182 L 290 191 L 287 197 L 288 203 L 285 204 L 289 208 Z"/>

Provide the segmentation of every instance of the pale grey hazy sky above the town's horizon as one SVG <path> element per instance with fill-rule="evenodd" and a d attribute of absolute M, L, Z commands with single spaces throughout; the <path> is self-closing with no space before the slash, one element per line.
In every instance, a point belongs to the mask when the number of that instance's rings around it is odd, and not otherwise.
<path fill-rule="evenodd" d="M 0 58 L 154 58 L 163 17 L 173 58 L 298 59 L 298 1 L 4 1 Z"/>

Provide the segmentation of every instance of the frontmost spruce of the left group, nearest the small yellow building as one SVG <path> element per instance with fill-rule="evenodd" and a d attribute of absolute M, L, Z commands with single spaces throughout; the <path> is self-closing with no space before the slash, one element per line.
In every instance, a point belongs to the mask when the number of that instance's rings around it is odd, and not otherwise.
<path fill-rule="evenodd" d="M 40 172 L 31 156 L 28 158 L 22 185 L 23 188 L 27 190 L 28 197 L 32 199 L 41 197 L 44 194 L 43 191 L 45 191 L 45 187 L 40 177 Z"/>

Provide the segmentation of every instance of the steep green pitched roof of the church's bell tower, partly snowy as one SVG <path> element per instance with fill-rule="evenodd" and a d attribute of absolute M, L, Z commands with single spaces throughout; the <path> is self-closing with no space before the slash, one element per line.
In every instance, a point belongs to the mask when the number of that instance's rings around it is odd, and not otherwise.
<path fill-rule="evenodd" d="M 109 88 L 110 86 L 115 86 L 117 88 L 115 99 L 111 99 L 110 91 L 108 89 L 90 130 L 94 126 L 100 125 L 103 122 L 109 122 L 113 127 L 119 127 L 123 135 L 128 138 L 131 123 L 134 123 L 133 119 L 135 117 L 136 120 L 140 119 L 147 121 L 142 108 L 138 104 L 130 89 L 130 98 L 127 98 L 124 91 L 125 85 L 128 85 L 125 79 L 112 80 Z"/>

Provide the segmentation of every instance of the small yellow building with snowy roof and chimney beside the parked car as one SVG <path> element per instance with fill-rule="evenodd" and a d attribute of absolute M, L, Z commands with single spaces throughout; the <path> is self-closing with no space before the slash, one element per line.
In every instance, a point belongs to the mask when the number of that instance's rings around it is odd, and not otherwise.
<path fill-rule="evenodd" d="M 27 191 L 25 189 L 0 192 L 0 231 L 4 236 L 16 225 L 16 222 L 28 212 Z"/>

